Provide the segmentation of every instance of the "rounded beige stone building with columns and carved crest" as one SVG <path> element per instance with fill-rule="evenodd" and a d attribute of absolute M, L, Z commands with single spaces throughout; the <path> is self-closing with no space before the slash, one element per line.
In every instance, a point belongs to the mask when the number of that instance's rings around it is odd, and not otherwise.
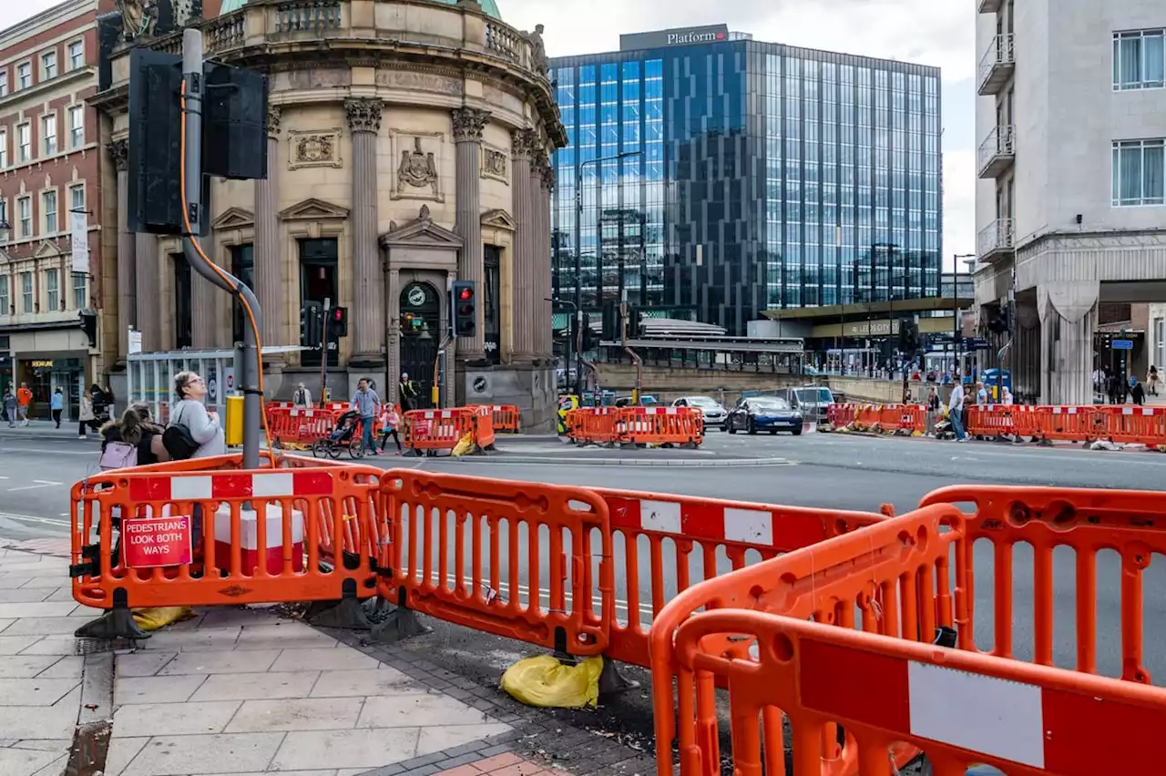
<path fill-rule="evenodd" d="M 268 397 L 318 388 L 326 358 L 333 395 L 367 376 L 395 398 L 408 372 L 428 398 L 461 278 L 479 318 L 448 350 L 456 401 L 518 404 L 527 428 L 549 428 L 549 154 L 567 137 L 541 35 L 489 0 L 226 0 L 201 29 L 208 57 L 262 70 L 271 89 L 267 178 L 212 182 L 204 248 L 255 289 L 265 346 L 301 344 L 304 303 L 349 310 L 346 337 L 267 361 Z M 181 34 L 134 44 L 177 54 Z M 126 231 L 128 47 L 112 58 L 93 98 L 120 164 L 106 304 L 145 351 L 231 347 L 243 313 L 191 274 L 180 240 Z"/>

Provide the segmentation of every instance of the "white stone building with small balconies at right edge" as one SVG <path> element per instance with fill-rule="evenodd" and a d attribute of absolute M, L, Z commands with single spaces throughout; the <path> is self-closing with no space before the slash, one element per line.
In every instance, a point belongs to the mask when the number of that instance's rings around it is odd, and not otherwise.
<path fill-rule="evenodd" d="M 1014 390 L 1090 403 L 1098 304 L 1166 301 L 1166 2 L 975 2 L 981 323 L 1014 295 Z"/>

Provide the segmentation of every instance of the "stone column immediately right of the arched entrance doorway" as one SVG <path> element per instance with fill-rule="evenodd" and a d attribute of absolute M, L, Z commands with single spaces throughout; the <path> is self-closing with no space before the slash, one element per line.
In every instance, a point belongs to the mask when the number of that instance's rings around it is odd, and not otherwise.
<path fill-rule="evenodd" d="M 462 238 L 462 253 L 457 261 L 458 280 L 470 281 L 478 295 L 478 333 L 457 340 L 458 354 L 464 359 L 480 359 L 485 353 L 482 291 L 485 269 L 482 249 L 482 132 L 490 120 L 489 111 L 476 108 L 454 110 L 454 142 L 457 143 L 457 216 L 454 232 Z"/>

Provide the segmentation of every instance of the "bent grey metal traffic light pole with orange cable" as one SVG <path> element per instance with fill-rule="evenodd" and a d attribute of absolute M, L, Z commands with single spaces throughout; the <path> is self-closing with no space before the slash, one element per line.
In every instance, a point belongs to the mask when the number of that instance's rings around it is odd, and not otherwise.
<path fill-rule="evenodd" d="M 239 385 L 243 387 L 243 467 L 259 468 L 259 426 L 260 426 L 260 390 L 259 390 L 259 344 L 255 340 L 255 329 L 262 326 L 262 312 L 259 299 L 247 285 L 226 270 L 224 280 L 212 270 L 195 249 L 195 239 L 205 218 L 202 209 L 203 181 L 203 33 L 199 29 L 187 28 L 182 33 L 182 78 L 187 84 L 187 153 L 183 158 L 187 176 L 187 211 L 190 216 L 190 234 L 182 240 L 182 253 L 196 273 L 218 285 L 224 291 L 246 299 L 254 316 L 254 327 L 244 326 L 243 331 L 243 374 Z M 232 283 L 234 289 L 231 288 Z"/>

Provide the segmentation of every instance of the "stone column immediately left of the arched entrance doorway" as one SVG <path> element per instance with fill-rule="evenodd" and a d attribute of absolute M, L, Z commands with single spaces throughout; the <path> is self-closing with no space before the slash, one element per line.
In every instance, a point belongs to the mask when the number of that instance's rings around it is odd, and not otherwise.
<path fill-rule="evenodd" d="M 377 246 L 377 133 L 380 132 L 379 99 L 344 101 L 352 133 L 352 284 L 356 294 L 349 320 L 352 332 L 352 364 L 375 367 L 385 364 L 382 276 Z"/>

